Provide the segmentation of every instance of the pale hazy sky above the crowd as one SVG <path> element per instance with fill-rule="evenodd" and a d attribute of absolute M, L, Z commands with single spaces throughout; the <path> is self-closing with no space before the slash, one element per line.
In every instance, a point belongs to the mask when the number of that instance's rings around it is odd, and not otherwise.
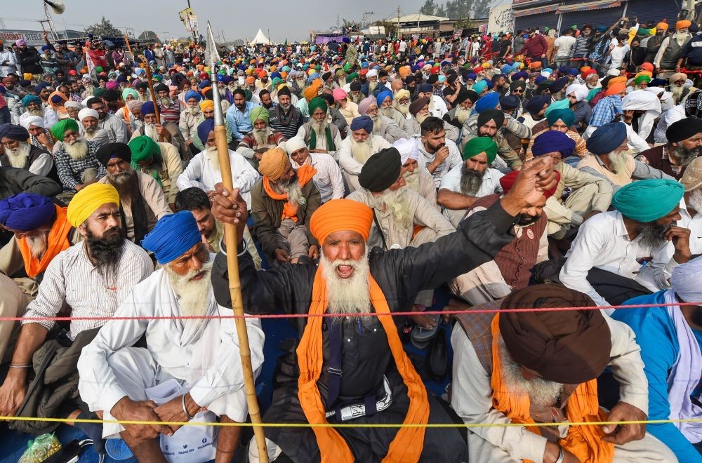
<path fill-rule="evenodd" d="M 4 0 L 8 1 L 8 0 Z M 86 26 L 100 22 L 102 15 L 124 31 L 134 29 L 138 36 L 150 29 L 162 38 L 163 32 L 172 37 L 185 36 L 187 32 L 178 19 L 178 11 L 187 8 L 187 0 L 169 2 L 163 0 L 63 0 L 65 13 L 53 15 L 56 29 L 83 30 Z M 419 12 L 425 0 L 403 0 L 400 14 Z M 12 2 L 12 8 L 4 5 L 1 19 L 6 29 L 41 30 L 37 20 L 44 18 L 41 0 Z M 241 5 L 245 5 L 242 8 Z M 378 0 L 303 0 L 303 1 L 227 1 L 191 0 L 190 5 L 198 16 L 200 32 L 204 34 L 207 20 L 213 33 L 224 34 L 227 41 L 253 39 L 258 28 L 275 42 L 307 40 L 309 30 L 327 30 L 336 25 L 337 15 L 341 21 L 360 21 L 362 13 L 372 11 L 372 20 L 397 16 L 397 4 Z M 1 27 L 1 24 L 0 24 Z M 221 39 L 215 37 L 216 40 Z"/>

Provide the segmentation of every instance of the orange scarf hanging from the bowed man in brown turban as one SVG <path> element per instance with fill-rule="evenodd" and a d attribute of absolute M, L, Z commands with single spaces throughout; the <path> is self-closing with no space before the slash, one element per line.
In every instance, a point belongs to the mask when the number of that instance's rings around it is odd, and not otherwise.
<path fill-rule="evenodd" d="M 492 406 L 510 417 L 513 423 L 534 423 L 529 413 L 529 396 L 508 390 L 502 377 L 502 360 L 499 349 L 500 314 L 492 319 Z M 578 385 L 566 404 L 566 417 L 571 423 L 600 422 L 607 415 L 597 400 L 597 380 Z M 541 434 L 538 427 L 527 427 L 534 434 Z M 593 426 L 571 426 L 559 445 L 578 457 L 581 462 L 611 462 L 614 445 L 602 441 L 602 430 Z M 529 460 L 524 460 L 529 462 Z"/>

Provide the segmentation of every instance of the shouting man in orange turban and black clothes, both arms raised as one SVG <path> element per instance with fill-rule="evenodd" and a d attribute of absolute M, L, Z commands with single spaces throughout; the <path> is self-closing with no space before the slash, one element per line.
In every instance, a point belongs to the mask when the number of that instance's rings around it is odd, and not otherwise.
<path fill-rule="evenodd" d="M 422 427 L 452 423 L 451 417 L 428 394 L 388 315 L 410 307 L 419 290 L 436 288 L 494 259 L 514 238 L 510 229 L 517 215 L 543 199 L 541 189 L 555 183 L 548 156 L 530 161 L 494 206 L 463 220 L 458 231 L 418 248 L 374 248 L 369 253 L 373 212 L 362 203 L 334 199 L 320 206 L 310 221 L 310 231 L 322 245 L 319 267 L 301 258 L 296 265 L 255 271 L 243 243 L 227 250 L 239 255 L 246 312 L 311 315 L 296 323 L 301 339 L 283 361 L 290 368 L 281 369 L 264 422 L 418 425 L 387 433 L 270 428 L 266 438 L 275 445 L 268 448 L 276 452 L 270 459 L 284 454 L 295 462 L 465 461 L 465 429 Z M 233 223 L 241 236 L 246 205 L 236 192 L 224 193 L 220 187 L 214 196 L 213 213 Z M 231 307 L 224 255 L 216 257 L 212 281 L 217 302 Z M 251 445 L 251 461 L 258 461 L 256 452 Z"/>

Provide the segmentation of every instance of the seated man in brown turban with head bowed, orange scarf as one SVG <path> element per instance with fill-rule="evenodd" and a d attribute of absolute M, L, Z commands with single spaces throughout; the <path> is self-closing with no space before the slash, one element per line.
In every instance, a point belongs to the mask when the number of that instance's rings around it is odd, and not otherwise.
<path fill-rule="evenodd" d="M 560 286 L 517 290 L 479 309 L 588 307 Z M 456 317 L 451 405 L 468 426 L 468 459 L 479 462 L 675 462 L 645 424 L 470 427 L 646 420 L 644 364 L 634 335 L 600 311 L 524 311 Z M 536 334 L 538 333 L 538 335 Z M 604 412 L 597 377 L 609 367 L 619 401 Z"/>

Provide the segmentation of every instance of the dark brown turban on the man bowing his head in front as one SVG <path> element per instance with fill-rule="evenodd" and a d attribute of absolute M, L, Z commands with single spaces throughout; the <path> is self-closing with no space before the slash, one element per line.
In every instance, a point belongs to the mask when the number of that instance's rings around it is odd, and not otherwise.
<path fill-rule="evenodd" d="M 501 309 L 595 305 L 578 291 L 536 285 L 505 297 Z M 611 355 L 611 333 L 599 310 L 503 312 L 500 333 L 515 362 L 536 371 L 544 380 L 562 384 L 595 379 Z"/>

